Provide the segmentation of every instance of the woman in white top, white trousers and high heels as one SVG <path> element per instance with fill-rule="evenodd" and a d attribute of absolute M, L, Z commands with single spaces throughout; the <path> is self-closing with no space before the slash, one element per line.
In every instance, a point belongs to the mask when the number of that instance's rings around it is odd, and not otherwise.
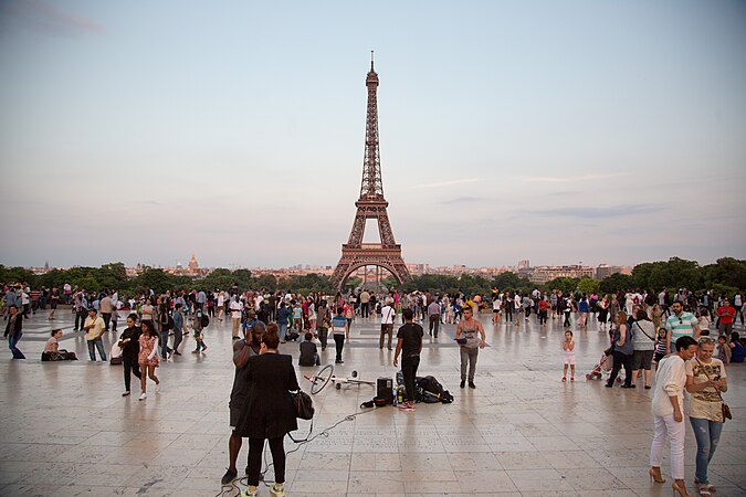
<path fill-rule="evenodd" d="M 681 303 L 674 303 L 681 306 Z M 674 310 L 675 313 L 675 310 Z M 684 483 L 684 388 L 686 385 L 685 362 L 696 353 L 696 341 L 684 335 L 676 339 L 676 351 L 665 357 L 658 364 L 655 390 L 653 393 L 653 442 L 650 446 L 650 477 L 656 483 L 664 483 L 661 476 L 661 453 L 663 444 L 669 440 L 671 446 L 671 487 L 682 497 L 687 496 Z"/>

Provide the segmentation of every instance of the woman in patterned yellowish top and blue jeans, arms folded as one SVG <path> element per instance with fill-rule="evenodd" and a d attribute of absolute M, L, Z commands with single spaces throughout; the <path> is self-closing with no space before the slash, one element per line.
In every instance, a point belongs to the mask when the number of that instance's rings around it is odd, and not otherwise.
<path fill-rule="evenodd" d="M 713 358 L 714 343 L 712 338 L 701 337 L 696 357 L 685 364 L 686 391 L 692 394 L 689 421 L 696 438 L 694 484 L 702 496 L 715 491 L 707 478 L 707 466 L 715 455 L 725 422 L 721 392 L 728 390 L 723 361 Z"/>

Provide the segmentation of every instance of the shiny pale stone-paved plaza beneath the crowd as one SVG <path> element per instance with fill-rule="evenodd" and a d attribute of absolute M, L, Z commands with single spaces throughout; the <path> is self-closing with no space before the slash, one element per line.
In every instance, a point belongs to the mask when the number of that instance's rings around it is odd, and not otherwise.
<path fill-rule="evenodd" d="M 221 495 L 233 381 L 230 325 L 210 325 L 201 356 L 189 353 L 195 342 L 187 339 L 183 356 L 158 369 L 160 394 L 150 383 L 148 399 L 139 402 L 136 379 L 133 395 L 122 398 L 122 366 L 90 362 L 70 311 L 57 317 L 55 326 L 65 332 L 60 348 L 75 350 L 80 361 L 40 361 L 52 329 L 45 314 L 24 324 L 19 348 L 25 361 L 11 360 L 7 345 L 0 351 L 0 495 Z M 491 317 L 479 317 L 488 347 L 479 356 L 476 390 L 459 389 L 454 327 L 445 325 L 438 342 L 425 330 L 419 374 L 434 376 L 455 401 L 418 404 L 416 413 L 368 410 L 300 446 L 285 438 L 286 451 L 294 451 L 287 495 L 671 495 L 668 456 L 666 484 L 648 477 L 652 390 L 606 389 L 585 379 L 608 345 L 595 321 L 587 331 L 574 328 L 578 376 L 563 383 L 558 320 L 539 327 L 532 317 L 517 328 L 494 326 Z M 378 349 L 378 328 L 376 319 L 356 319 L 337 376 L 395 376 L 393 352 Z M 107 334 L 107 350 L 113 340 Z M 297 357 L 297 345 L 283 345 L 281 352 Z M 334 361 L 333 343 L 322 358 Z M 296 369 L 306 390 L 302 376 L 316 370 Z M 734 421 L 725 424 L 710 472 L 719 497 L 746 495 L 746 373 L 743 364 L 727 373 Z M 374 395 L 368 385 L 326 388 L 314 396 L 314 434 L 360 412 Z M 696 446 L 686 424 L 686 480 L 694 491 Z M 308 422 L 300 422 L 294 436 L 307 432 Z M 240 474 L 246 448 L 244 443 Z M 245 488 L 245 479 L 239 486 Z M 269 496 L 269 488 L 260 495 Z"/>

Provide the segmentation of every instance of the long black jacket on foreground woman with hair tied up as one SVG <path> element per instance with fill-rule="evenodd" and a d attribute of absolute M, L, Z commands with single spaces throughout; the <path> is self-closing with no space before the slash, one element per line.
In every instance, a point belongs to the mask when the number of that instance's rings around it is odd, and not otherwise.
<path fill-rule="evenodd" d="M 250 357 L 245 376 L 251 390 L 237 433 L 250 438 L 276 438 L 297 430 L 290 394 L 300 390 L 293 358 L 280 353 Z"/>

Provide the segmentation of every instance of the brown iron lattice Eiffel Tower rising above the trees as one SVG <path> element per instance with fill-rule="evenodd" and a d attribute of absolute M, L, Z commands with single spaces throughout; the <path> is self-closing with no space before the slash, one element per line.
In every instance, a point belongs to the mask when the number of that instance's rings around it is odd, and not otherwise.
<path fill-rule="evenodd" d="M 411 278 L 407 264 L 401 257 L 401 245 L 393 240 L 391 223 L 383 198 L 383 180 L 381 179 L 380 147 L 378 144 L 378 74 L 374 71 L 372 52 L 370 53 L 370 72 L 365 81 L 368 87 L 368 117 L 365 129 L 365 159 L 363 162 L 363 182 L 360 198 L 355 202 L 357 214 L 349 233 L 349 241 L 342 245 L 342 257 L 332 275 L 332 285 L 342 289 L 349 275 L 364 266 L 382 267 L 401 285 Z M 369 219 L 378 221 L 380 243 L 363 243 L 365 224 Z"/>

